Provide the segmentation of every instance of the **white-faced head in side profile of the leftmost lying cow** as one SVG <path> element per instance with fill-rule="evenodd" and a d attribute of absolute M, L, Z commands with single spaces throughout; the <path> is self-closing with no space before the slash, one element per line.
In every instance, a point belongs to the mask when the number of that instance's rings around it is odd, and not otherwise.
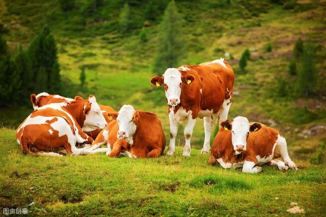
<path fill-rule="evenodd" d="M 84 100 L 81 97 L 75 97 L 76 101 Z M 102 115 L 101 109 L 96 102 L 96 98 L 90 95 L 84 106 L 85 121 L 83 131 L 89 132 L 96 129 L 103 129 L 106 126 L 106 120 Z"/>

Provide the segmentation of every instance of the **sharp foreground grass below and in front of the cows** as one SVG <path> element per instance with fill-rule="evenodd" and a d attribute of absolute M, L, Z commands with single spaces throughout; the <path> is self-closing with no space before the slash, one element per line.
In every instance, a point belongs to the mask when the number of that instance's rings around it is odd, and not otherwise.
<path fill-rule="evenodd" d="M 21 154 L 6 128 L 0 154 L 0 204 L 30 215 L 286 216 L 290 202 L 308 216 L 326 212 L 326 165 L 298 159 L 297 171 L 264 166 L 252 175 L 208 166 L 199 149 L 182 158 L 181 147 L 157 159 L 36 158 Z"/>

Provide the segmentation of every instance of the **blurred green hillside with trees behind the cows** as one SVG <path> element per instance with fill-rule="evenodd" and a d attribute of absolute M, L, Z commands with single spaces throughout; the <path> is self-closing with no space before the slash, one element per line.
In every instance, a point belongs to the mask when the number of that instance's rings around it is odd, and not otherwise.
<path fill-rule="evenodd" d="M 169 135 L 164 90 L 149 79 L 224 57 L 236 74 L 229 119 L 277 128 L 291 156 L 321 162 L 325 9 L 295 0 L 0 0 L 0 124 L 17 128 L 32 93 L 94 94 L 116 110 L 155 112 Z M 192 147 L 203 140 L 199 119 Z"/>

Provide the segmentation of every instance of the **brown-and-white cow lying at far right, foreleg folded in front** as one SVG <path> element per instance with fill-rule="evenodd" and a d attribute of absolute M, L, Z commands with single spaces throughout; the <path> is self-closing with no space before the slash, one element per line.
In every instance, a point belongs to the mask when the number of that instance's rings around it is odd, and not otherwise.
<path fill-rule="evenodd" d="M 283 161 L 274 159 L 282 157 Z M 242 167 L 242 172 L 259 173 L 262 165 L 277 166 L 279 170 L 297 170 L 291 161 L 286 140 L 277 130 L 259 122 L 249 122 L 246 117 L 237 116 L 233 122 L 220 123 L 212 150 L 209 165 L 219 163 L 223 168 Z"/>

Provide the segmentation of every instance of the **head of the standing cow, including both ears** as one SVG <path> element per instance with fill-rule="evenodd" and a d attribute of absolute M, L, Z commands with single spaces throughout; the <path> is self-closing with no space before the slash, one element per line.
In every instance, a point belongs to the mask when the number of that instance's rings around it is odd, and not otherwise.
<path fill-rule="evenodd" d="M 188 85 L 195 80 L 192 75 L 181 75 L 175 68 L 169 68 L 162 77 L 155 76 L 150 82 L 157 87 L 164 86 L 168 105 L 176 106 L 180 103 L 181 85 Z"/>

